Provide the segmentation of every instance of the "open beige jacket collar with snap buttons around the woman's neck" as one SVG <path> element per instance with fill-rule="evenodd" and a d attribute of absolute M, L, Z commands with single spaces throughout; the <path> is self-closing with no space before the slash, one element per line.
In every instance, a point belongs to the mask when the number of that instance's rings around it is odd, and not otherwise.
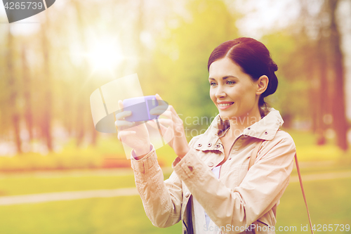
<path fill-rule="evenodd" d="M 267 110 L 268 113 L 265 117 L 244 129 L 240 136 L 251 136 L 263 140 L 272 140 L 284 121 L 278 110 L 275 110 L 274 108 L 267 108 Z M 245 121 L 247 121 L 247 119 Z M 199 137 L 194 148 L 198 150 L 218 150 L 218 148 L 220 148 L 220 145 L 218 145 L 218 139 L 225 134 L 229 127 L 229 122 L 223 121 L 218 114 L 215 119 L 213 119 L 213 122 L 205 133 Z"/>

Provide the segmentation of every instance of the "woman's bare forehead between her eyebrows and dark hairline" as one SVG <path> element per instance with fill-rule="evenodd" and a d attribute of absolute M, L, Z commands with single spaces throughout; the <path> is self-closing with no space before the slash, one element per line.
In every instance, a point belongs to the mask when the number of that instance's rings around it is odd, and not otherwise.
<path fill-rule="evenodd" d="M 221 78 L 225 76 L 242 77 L 245 75 L 239 65 L 233 63 L 230 58 L 221 58 L 210 65 L 209 78 Z M 247 74 L 246 74 L 247 75 Z"/>

